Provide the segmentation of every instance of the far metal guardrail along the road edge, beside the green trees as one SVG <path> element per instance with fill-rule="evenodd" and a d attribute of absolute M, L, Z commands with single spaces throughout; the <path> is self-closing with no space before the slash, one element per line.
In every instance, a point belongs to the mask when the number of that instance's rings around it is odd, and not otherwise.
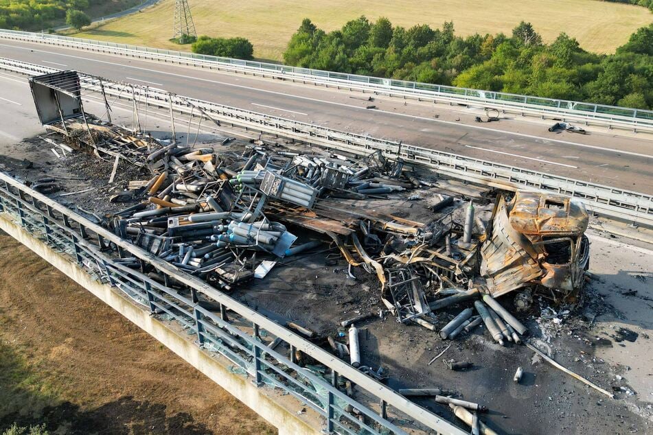
<path fill-rule="evenodd" d="M 188 64 L 196 67 L 251 73 L 253 75 L 310 82 L 324 86 L 337 86 L 339 88 L 373 92 L 382 95 L 423 99 L 433 102 L 449 102 L 450 104 L 482 106 L 509 113 L 562 118 L 569 121 L 580 121 L 586 124 L 608 126 L 610 128 L 618 127 L 628 128 L 634 131 L 653 132 L 653 110 L 606 106 L 603 104 L 575 102 L 564 99 L 534 97 L 531 95 L 483 91 L 439 84 L 408 82 L 404 80 L 371 77 L 368 75 L 288 67 L 282 64 L 206 56 L 185 51 L 139 47 L 99 40 L 20 32 L 16 30 L 0 30 L 0 38 L 27 40 L 137 58 Z"/>

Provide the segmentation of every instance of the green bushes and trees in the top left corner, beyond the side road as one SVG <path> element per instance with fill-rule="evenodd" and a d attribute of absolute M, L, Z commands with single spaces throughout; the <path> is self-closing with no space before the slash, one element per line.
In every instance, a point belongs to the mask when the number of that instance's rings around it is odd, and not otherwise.
<path fill-rule="evenodd" d="M 79 30 L 87 21 L 91 23 L 89 16 L 111 14 L 139 3 L 139 0 L 0 0 L 0 29 L 45 30 L 68 23 Z M 67 16 L 70 12 L 74 12 L 72 23 Z"/>

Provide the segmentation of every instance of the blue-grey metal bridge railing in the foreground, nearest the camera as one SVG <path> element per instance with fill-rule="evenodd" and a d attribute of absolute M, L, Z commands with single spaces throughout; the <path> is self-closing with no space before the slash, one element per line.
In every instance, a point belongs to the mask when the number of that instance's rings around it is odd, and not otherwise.
<path fill-rule="evenodd" d="M 0 172 L 0 214 L 8 215 L 61 255 L 71 257 L 80 268 L 102 283 L 111 284 L 152 316 L 170 320 L 194 333 L 196 344 L 220 353 L 233 362 L 235 373 L 252 379 L 257 386 L 279 388 L 325 419 L 327 433 L 367 435 L 406 434 L 423 425 L 439 434 L 463 435 L 455 425 L 398 395 L 356 368 L 256 311 L 186 274 L 158 257 L 117 237 L 105 228 L 74 213 Z M 141 270 L 151 266 L 165 282 L 181 283 L 188 296 L 154 281 L 125 262 L 137 262 Z M 199 296 L 214 301 L 220 314 L 201 307 Z M 217 311 L 217 310 L 216 310 Z M 228 314 L 227 314 L 228 313 Z M 245 326 L 243 326 L 245 325 Z M 325 366 L 325 373 L 303 368 L 274 351 L 262 340 L 280 338 Z M 356 399 L 336 388 L 343 378 L 356 385 Z M 355 408 L 365 416 L 360 421 L 347 412 Z M 376 410 L 373 410 L 376 408 Z M 391 416 L 391 419 L 387 418 Z M 408 421 L 417 426 L 398 427 Z M 410 429 L 409 429 L 410 427 Z"/>

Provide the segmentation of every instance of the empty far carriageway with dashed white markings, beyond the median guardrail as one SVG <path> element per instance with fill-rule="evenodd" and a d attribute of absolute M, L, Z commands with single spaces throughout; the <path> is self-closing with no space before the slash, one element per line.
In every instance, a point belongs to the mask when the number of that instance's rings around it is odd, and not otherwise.
<path fill-rule="evenodd" d="M 404 106 L 397 99 L 369 103 L 352 98 L 360 97 L 360 93 L 19 41 L 0 40 L 0 56 L 160 87 L 336 130 L 401 139 L 527 169 L 653 192 L 653 148 L 645 137 L 555 135 L 546 131 L 545 124 L 512 120 L 492 123 L 492 128 L 488 128 L 473 123 L 473 118 L 480 114 L 474 110 L 450 110 L 444 105 L 424 103 Z M 375 104 L 377 110 L 365 109 L 367 104 Z M 434 117 L 436 113 L 440 115 L 438 119 Z M 564 137 L 564 141 L 558 137 Z"/>

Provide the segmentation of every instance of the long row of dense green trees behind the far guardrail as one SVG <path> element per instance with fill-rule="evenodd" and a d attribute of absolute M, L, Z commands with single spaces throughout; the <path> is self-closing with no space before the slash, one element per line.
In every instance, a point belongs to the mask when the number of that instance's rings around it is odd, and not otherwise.
<path fill-rule="evenodd" d="M 387 18 L 372 23 L 361 16 L 341 30 L 324 32 L 304 19 L 290 38 L 284 61 L 398 80 L 653 107 L 653 24 L 634 32 L 615 54 L 601 55 L 585 51 L 565 33 L 545 44 L 525 22 L 509 35 L 461 37 L 451 22 L 440 29 L 406 29 Z"/>

